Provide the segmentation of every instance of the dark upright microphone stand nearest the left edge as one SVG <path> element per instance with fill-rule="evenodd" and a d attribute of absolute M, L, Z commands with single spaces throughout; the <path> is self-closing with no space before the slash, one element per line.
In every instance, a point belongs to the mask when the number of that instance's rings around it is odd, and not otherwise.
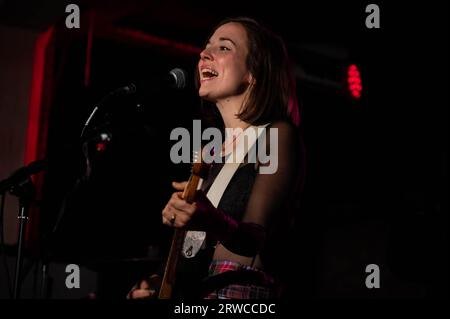
<path fill-rule="evenodd" d="M 14 290 L 13 299 L 18 299 L 20 296 L 20 284 L 21 284 L 21 271 L 23 264 L 23 241 L 26 223 L 28 221 L 28 209 L 30 203 L 33 201 L 36 195 L 36 188 L 28 177 L 24 181 L 14 185 L 10 193 L 19 198 L 19 234 L 17 245 L 17 258 L 16 258 L 16 272 L 14 275 Z"/>

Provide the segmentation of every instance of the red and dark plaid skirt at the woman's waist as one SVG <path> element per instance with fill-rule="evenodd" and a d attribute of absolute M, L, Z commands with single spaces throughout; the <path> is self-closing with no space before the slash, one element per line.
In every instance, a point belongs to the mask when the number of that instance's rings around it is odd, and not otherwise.
<path fill-rule="evenodd" d="M 242 265 L 238 262 L 213 260 L 209 267 L 208 279 L 213 280 L 224 277 L 224 275 L 238 273 L 250 276 L 241 276 L 243 280 L 237 279 L 235 283 L 214 289 L 205 296 L 205 299 L 272 299 L 279 297 L 279 286 L 272 276 L 256 267 Z M 257 279 L 245 280 L 245 277 Z"/>

